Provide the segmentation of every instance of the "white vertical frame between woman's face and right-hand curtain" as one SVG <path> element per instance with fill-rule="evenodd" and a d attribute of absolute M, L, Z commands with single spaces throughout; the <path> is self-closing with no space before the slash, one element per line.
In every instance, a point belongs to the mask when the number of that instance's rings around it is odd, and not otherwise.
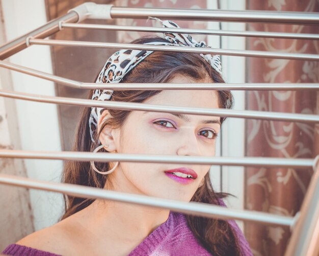
<path fill-rule="evenodd" d="M 222 10 L 245 10 L 244 0 L 221 0 Z M 217 1 L 207 0 L 207 9 L 217 9 Z M 208 28 L 219 30 L 218 22 L 208 22 Z M 222 30 L 245 31 L 244 23 L 222 22 Z M 220 48 L 220 36 L 209 36 L 208 45 Z M 245 37 L 222 37 L 222 49 L 245 50 Z M 245 57 L 222 56 L 222 70 L 227 83 L 245 83 Z M 232 91 L 236 110 L 245 109 L 245 91 Z M 244 156 L 245 120 L 229 118 L 223 124 L 222 136 L 219 138 L 216 155 L 229 157 Z M 221 145 L 222 142 L 222 145 Z M 222 146 L 222 147 L 221 147 Z M 220 172 L 221 169 L 221 172 Z M 222 183 L 223 192 L 231 193 L 237 198 L 228 197 L 225 203 L 228 207 L 244 208 L 244 168 L 243 167 L 212 167 L 211 179 L 214 188 L 219 191 Z M 222 174 L 222 175 L 220 175 Z M 243 223 L 237 221 L 241 228 Z"/>

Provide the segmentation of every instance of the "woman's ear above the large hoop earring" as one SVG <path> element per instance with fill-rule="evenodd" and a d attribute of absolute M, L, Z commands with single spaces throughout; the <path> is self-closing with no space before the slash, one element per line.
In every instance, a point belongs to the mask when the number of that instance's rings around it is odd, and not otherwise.
<path fill-rule="evenodd" d="M 98 120 L 97 124 L 97 132 L 100 131 L 105 121 L 107 121 L 110 118 L 109 110 L 104 110 Z M 105 125 L 102 128 L 102 131 L 99 135 L 99 140 L 102 145 L 109 145 L 108 148 L 105 148 L 109 152 L 113 152 L 117 150 L 117 132 L 110 127 L 110 125 Z"/>

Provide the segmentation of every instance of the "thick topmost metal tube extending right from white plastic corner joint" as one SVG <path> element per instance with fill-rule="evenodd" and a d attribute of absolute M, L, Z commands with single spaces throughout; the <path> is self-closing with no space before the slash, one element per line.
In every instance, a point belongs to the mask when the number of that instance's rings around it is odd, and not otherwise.
<path fill-rule="evenodd" d="M 203 9 L 131 8 L 115 6 L 111 9 L 112 18 L 147 19 L 149 16 L 170 20 L 319 24 L 319 14 L 317 12 L 226 11 Z"/>

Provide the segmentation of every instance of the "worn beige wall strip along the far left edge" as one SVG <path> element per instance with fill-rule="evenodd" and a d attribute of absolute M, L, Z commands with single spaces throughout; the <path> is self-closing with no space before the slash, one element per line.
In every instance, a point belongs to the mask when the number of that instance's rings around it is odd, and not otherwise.
<path fill-rule="evenodd" d="M 0 1 L 0 44 L 6 41 Z M 12 90 L 11 74 L 0 69 L 0 89 Z M 20 148 L 15 103 L 0 97 L 0 149 Z M 0 158 L 0 173 L 26 176 L 21 159 Z M 29 190 L 0 185 L 0 251 L 34 231 Z"/>

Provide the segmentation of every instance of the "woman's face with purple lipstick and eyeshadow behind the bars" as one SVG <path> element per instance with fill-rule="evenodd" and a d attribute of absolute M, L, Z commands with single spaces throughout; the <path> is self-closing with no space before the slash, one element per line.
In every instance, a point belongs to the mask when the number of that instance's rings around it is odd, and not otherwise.
<path fill-rule="evenodd" d="M 194 83 L 177 76 L 172 83 Z M 209 81 L 207 81 L 209 82 Z M 181 107 L 218 108 L 218 92 L 214 90 L 163 90 L 145 101 L 146 104 Z M 185 120 L 187 119 L 187 120 Z M 164 112 L 131 111 L 124 126 L 113 132 L 118 153 L 160 154 L 177 156 L 214 156 L 220 118 L 205 115 L 176 117 Z M 100 136 L 104 144 L 104 138 Z M 105 141 L 109 144 L 109 141 Z M 175 174 L 167 173 L 174 170 Z M 147 196 L 190 201 L 209 165 L 120 162 L 109 175 L 117 191 Z M 193 178 L 178 177 L 192 169 Z M 195 176 L 197 177 L 195 178 Z"/>

